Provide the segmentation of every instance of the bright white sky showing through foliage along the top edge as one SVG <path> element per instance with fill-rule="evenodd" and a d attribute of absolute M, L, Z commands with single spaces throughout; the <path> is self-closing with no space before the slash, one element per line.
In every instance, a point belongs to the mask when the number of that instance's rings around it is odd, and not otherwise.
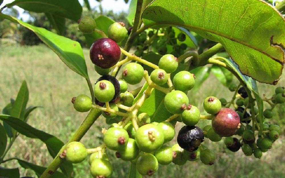
<path fill-rule="evenodd" d="M 14 0 L 4 0 L 2 5 L 0 6 L 0 8 L 3 7 L 5 4 L 11 3 L 13 1 Z M 79 0 L 79 2 L 81 4 L 83 4 L 83 0 Z M 98 8 L 99 2 L 97 2 L 95 0 L 89 0 L 89 3 L 90 3 L 91 8 L 94 8 L 94 7 Z M 102 3 L 102 7 L 104 10 L 113 10 L 113 12 L 121 12 L 121 11 L 127 12 L 129 9 L 130 0 L 129 0 L 128 4 L 126 4 L 124 0 L 117 0 L 117 1 L 115 1 L 115 0 L 103 0 L 101 3 Z M 24 9 L 22 9 L 18 6 L 14 6 L 14 7 L 20 13 L 19 19 L 23 18 L 24 21 L 27 21 L 29 19 L 29 15 L 23 13 Z"/>

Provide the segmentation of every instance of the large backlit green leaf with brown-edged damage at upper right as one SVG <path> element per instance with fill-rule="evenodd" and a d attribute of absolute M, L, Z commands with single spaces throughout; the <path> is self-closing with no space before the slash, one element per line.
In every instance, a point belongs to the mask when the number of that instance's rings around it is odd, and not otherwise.
<path fill-rule="evenodd" d="M 142 18 L 145 25 L 182 26 L 221 43 L 241 72 L 260 82 L 276 84 L 282 73 L 285 20 L 264 1 L 154 0 Z"/>

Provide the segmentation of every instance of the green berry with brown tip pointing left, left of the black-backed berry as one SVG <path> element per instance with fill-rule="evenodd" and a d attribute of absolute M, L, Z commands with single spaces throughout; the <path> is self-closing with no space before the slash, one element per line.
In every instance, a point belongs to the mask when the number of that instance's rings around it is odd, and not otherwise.
<path fill-rule="evenodd" d="M 87 112 L 92 107 L 92 100 L 89 96 L 81 94 L 76 98 L 72 98 L 74 109 L 78 112 Z"/>

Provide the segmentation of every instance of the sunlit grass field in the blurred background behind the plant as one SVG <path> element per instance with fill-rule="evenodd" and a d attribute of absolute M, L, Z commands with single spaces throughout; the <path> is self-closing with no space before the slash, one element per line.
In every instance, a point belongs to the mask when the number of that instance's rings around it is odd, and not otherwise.
<path fill-rule="evenodd" d="M 94 83 L 99 77 L 95 74 L 93 65 L 89 60 L 89 51 L 84 49 L 86 64 L 91 81 Z M 74 110 L 71 98 L 78 94 L 89 95 L 86 81 L 79 76 L 44 45 L 40 46 L 0 46 L 0 110 L 15 98 L 23 80 L 27 81 L 29 88 L 28 105 L 42 106 L 36 109 L 30 116 L 28 124 L 47 133 L 53 134 L 66 142 L 81 124 L 86 113 L 78 113 Z M 275 86 L 258 84 L 260 94 L 270 97 L 274 93 Z M 285 74 L 278 86 L 285 86 Z M 135 87 L 133 87 L 135 88 Z M 132 88 L 129 88 L 130 90 Z M 200 108 L 206 96 L 217 96 L 230 99 L 232 92 L 219 84 L 215 77 L 210 76 L 201 89 L 188 93 L 190 103 Z M 160 165 L 157 173 L 152 177 L 160 178 L 283 178 L 285 177 L 285 141 L 284 141 L 284 116 L 285 105 L 274 109 L 276 113 L 270 122 L 281 124 L 282 138 L 274 142 L 273 148 L 266 152 L 261 159 L 253 156 L 246 157 L 242 151 L 232 153 L 225 149 L 222 141 L 210 143 L 206 139 L 206 145 L 217 154 L 217 160 L 213 166 L 205 166 L 200 161 L 188 162 L 183 166 L 170 164 Z M 203 126 L 209 121 L 200 122 Z M 86 147 L 96 147 L 102 143 L 101 128 L 106 127 L 105 121 L 100 117 L 87 134 L 83 137 L 82 143 Z M 179 130 L 182 124 L 178 124 Z M 176 141 L 173 140 L 170 145 Z M 30 139 L 20 135 L 15 141 L 12 149 L 6 155 L 6 159 L 17 157 L 37 165 L 47 166 L 52 158 L 49 155 L 44 143 L 37 139 Z M 113 164 L 114 172 L 112 177 L 127 177 L 129 162 L 121 161 L 114 157 L 114 152 L 109 152 L 109 158 Z M 1 165 L 3 167 L 17 167 L 16 161 L 10 161 Z M 21 176 L 34 176 L 33 171 L 21 168 Z M 91 177 L 89 174 L 88 161 L 74 165 L 74 177 Z"/>

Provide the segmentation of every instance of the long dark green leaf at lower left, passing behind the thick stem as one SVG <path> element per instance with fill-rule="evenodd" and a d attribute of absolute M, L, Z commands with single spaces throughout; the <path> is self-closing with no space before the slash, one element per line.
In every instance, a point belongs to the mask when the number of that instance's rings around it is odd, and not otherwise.
<path fill-rule="evenodd" d="M 61 147 L 64 143 L 58 139 L 57 137 L 50 135 L 46 132 L 33 128 L 32 126 L 28 125 L 24 121 L 20 120 L 19 118 L 15 118 L 8 115 L 0 115 L 0 120 L 5 121 L 9 124 L 13 129 L 17 130 L 19 133 L 29 137 L 29 138 L 38 138 L 42 142 L 46 144 L 48 148 L 48 152 L 54 158 L 56 157 L 58 151 L 60 151 Z M 70 176 L 72 172 L 72 164 L 64 161 L 62 166 L 60 167 L 61 170 L 68 176 Z"/>

